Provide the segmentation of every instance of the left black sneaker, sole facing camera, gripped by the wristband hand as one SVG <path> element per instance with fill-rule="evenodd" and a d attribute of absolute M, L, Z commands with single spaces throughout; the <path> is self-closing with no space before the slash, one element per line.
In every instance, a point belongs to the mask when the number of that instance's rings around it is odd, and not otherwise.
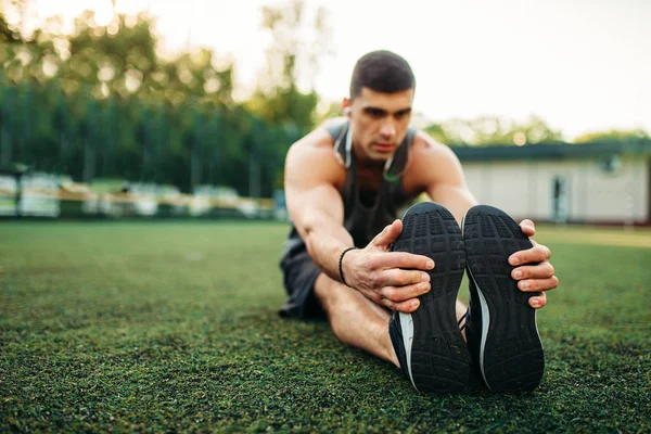
<path fill-rule="evenodd" d="M 419 297 L 413 314 L 394 311 L 388 333 L 400 368 L 420 392 L 464 391 L 469 355 L 456 318 L 456 302 L 465 267 L 461 229 L 445 207 L 423 202 L 403 218 L 403 233 L 393 252 L 409 252 L 434 259 L 432 289 Z"/>

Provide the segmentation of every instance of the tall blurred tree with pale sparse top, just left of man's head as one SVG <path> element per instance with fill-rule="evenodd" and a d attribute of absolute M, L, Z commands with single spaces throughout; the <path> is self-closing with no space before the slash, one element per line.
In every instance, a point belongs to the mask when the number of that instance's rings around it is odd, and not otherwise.
<path fill-rule="evenodd" d="M 251 182 L 259 182 L 263 195 L 271 195 L 282 178 L 284 155 L 292 142 L 314 128 L 319 97 L 315 91 L 315 77 L 322 54 L 330 52 L 331 30 L 328 13 L 319 8 L 314 17 L 308 16 L 303 0 L 292 0 L 278 7 L 261 9 L 261 27 L 271 35 L 267 50 L 267 71 L 260 75 L 258 86 L 246 102 L 246 107 L 265 120 L 268 140 L 252 138 L 247 151 L 253 163 Z M 309 29 L 309 31 L 308 31 Z M 310 37 L 312 38 L 310 40 Z M 309 77 L 301 89 L 301 77 Z M 260 133 L 261 128 L 256 128 Z M 261 149 L 261 142 L 267 145 Z M 280 175 L 279 175 L 280 174 Z"/>

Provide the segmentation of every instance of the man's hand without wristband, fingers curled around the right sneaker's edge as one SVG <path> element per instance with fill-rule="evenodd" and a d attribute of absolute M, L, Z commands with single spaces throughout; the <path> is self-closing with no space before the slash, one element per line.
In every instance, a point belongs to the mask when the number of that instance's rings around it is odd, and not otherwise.
<path fill-rule="evenodd" d="M 525 219 L 520 224 L 522 232 L 527 237 L 536 233 L 532 220 Z M 518 280 L 518 288 L 523 292 L 540 292 L 540 295 L 529 298 L 529 305 L 539 309 L 547 304 L 545 291 L 553 290 L 559 285 L 559 279 L 553 276 L 553 266 L 549 264 L 551 252 L 546 246 L 531 240 L 534 246 L 526 251 L 515 252 L 509 257 L 509 264 L 521 266 L 514 268 L 511 277 Z"/>

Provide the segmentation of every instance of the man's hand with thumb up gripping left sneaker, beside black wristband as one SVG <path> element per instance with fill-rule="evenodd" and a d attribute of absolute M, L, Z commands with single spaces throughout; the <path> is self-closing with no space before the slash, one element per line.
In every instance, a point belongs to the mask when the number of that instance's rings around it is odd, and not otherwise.
<path fill-rule="evenodd" d="M 427 256 L 390 252 L 401 231 L 403 222 L 395 220 L 365 248 L 346 253 L 342 268 L 346 284 L 370 301 L 412 312 L 419 306 L 417 297 L 430 291 L 430 275 L 425 271 L 434 268 L 434 261 Z"/>

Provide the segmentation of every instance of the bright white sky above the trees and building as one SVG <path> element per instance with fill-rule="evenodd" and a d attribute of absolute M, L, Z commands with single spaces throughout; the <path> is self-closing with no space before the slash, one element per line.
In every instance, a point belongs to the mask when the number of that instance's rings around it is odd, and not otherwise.
<path fill-rule="evenodd" d="M 149 9 L 166 47 L 210 47 L 235 60 L 243 89 L 265 68 L 270 37 L 259 29 L 273 0 L 117 0 Z M 111 0 L 37 0 L 42 16 L 111 12 Z M 591 130 L 651 131 L 651 1 L 648 0 L 306 0 L 330 11 L 333 54 L 315 87 L 347 95 L 356 60 L 375 49 L 407 59 L 414 110 L 432 120 L 535 114 L 565 139 Z M 309 35 L 306 34 L 306 40 Z M 305 82 L 309 79 L 305 77 Z"/>

